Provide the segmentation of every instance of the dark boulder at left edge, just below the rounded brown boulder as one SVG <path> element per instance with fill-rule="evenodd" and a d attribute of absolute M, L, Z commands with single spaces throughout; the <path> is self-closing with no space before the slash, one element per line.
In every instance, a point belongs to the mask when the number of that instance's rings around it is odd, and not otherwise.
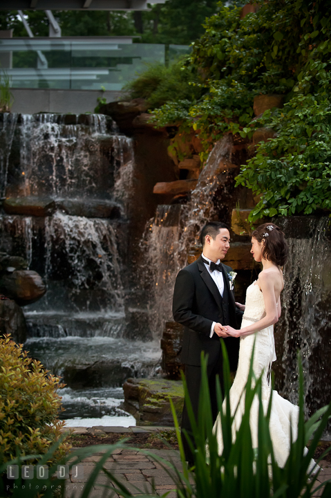
<path fill-rule="evenodd" d="M 15 342 L 26 342 L 26 320 L 23 311 L 12 299 L 0 299 L 0 333 L 12 335 Z"/>

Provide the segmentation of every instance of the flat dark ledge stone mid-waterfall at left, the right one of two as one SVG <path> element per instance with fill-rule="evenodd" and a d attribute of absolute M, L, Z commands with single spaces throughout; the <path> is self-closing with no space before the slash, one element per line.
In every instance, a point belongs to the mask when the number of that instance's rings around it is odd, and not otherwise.
<path fill-rule="evenodd" d="M 70 216 L 110 219 L 121 216 L 120 205 L 107 199 L 63 199 L 57 202 L 57 208 Z"/>

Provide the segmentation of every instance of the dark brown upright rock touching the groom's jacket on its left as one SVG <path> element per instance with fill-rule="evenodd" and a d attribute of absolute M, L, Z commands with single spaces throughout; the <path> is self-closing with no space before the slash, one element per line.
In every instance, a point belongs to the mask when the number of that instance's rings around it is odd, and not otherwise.
<path fill-rule="evenodd" d="M 172 380 L 180 380 L 180 370 L 184 370 L 180 360 L 183 333 L 184 326 L 176 322 L 166 322 L 162 333 L 162 369 Z"/>

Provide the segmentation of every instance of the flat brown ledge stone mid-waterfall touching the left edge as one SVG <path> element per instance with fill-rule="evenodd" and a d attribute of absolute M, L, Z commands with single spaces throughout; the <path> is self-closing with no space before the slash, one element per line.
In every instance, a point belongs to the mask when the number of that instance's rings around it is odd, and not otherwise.
<path fill-rule="evenodd" d="M 7 214 L 52 216 L 56 210 L 56 205 L 55 201 L 48 197 L 11 197 L 3 201 L 3 209 Z"/>

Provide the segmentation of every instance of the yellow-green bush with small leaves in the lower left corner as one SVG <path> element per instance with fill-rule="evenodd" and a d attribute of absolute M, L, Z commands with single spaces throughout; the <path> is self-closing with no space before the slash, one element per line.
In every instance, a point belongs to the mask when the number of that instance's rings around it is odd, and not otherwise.
<path fill-rule="evenodd" d="M 63 422 L 58 412 L 61 398 L 59 378 L 48 374 L 41 363 L 28 358 L 21 345 L 6 335 L 0 338 L 0 461 L 45 454 L 61 436 Z M 58 446 L 55 458 L 68 452 Z"/>

